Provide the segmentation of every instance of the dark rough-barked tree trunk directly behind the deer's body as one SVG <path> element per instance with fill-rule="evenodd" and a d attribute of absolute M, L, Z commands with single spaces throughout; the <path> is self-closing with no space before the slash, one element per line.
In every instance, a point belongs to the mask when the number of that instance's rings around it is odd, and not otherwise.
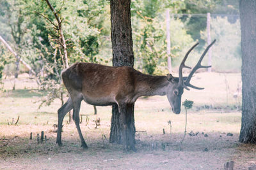
<path fill-rule="evenodd" d="M 111 40 L 113 50 L 113 66 L 133 67 L 134 56 L 132 50 L 131 29 L 131 0 L 110 0 L 111 10 Z M 131 115 L 131 126 L 135 136 L 134 104 L 127 108 Z M 112 108 L 110 143 L 122 143 L 122 125 L 120 124 L 118 106 Z M 135 141 L 135 140 L 134 140 Z"/>

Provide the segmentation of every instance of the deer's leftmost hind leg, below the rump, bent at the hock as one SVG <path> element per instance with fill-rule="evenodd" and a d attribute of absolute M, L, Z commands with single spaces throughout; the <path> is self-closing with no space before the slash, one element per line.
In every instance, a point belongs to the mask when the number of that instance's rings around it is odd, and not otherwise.
<path fill-rule="evenodd" d="M 72 108 L 73 108 L 72 100 L 69 97 L 68 101 L 65 104 L 63 104 L 63 106 L 61 106 L 61 108 L 58 110 L 58 130 L 57 130 L 56 143 L 58 143 L 59 146 L 62 145 L 62 143 L 61 143 L 61 129 L 62 129 L 62 126 L 63 126 L 62 125 L 63 118 L 68 113 L 68 111 L 72 110 Z"/>

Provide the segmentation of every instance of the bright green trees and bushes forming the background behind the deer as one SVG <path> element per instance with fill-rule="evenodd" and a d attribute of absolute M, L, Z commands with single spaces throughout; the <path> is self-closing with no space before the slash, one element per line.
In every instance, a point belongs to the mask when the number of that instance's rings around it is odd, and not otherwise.
<path fill-rule="evenodd" d="M 61 18 L 67 43 L 68 63 L 95 62 L 112 65 L 109 2 L 104 0 L 52 1 Z M 212 70 L 241 71 L 241 31 L 237 1 L 139 0 L 131 1 L 134 67 L 147 74 L 167 74 L 166 10 L 170 10 L 170 41 L 173 72 L 177 71 L 186 51 L 193 65 L 207 46 L 206 13 L 211 13 Z M 0 43 L 0 78 L 17 78 L 18 74 L 35 71 L 38 89 L 49 92 L 42 104 L 63 101 L 61 85 L 63 46 L 59 43 L 56 21 L 47 4 L 40 0 L 3 0 L 0 2 L 0 30 L 6 42 L 17 53 L 13 56 Z M 55 28 L 54 28 L 55 27 Z M 30 67 L 19 64 L 24 60 Z M 207 60 L 205 60 L 207 61 Z M 3 87 L 2 87 L 3 89 Z M 15 89 L 15 79 L 13 80 Z"/>

